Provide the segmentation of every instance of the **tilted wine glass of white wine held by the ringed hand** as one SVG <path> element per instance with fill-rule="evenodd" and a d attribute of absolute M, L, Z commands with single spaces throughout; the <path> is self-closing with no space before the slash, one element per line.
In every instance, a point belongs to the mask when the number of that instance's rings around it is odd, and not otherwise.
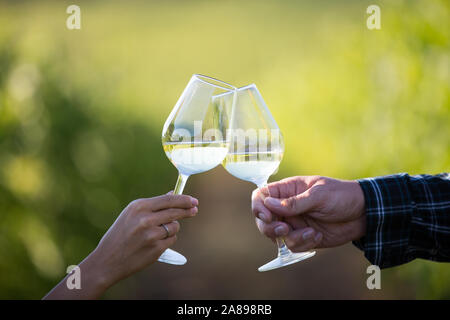
<path fill-rule="evenodd" d="M 190 175 L 208 171 L 225 158 L 229 148 L 227 112 L 233 110 L 235 90 L 223 81 L 194 74 L 175 104 L 162 131 L 164 151 L 178 169 L 174 194 L 183 193 Z M 221 98 L 223 95 L 227 98 Z M 167 249 L 158 261 L 182 265 L 187 260 Z"/>

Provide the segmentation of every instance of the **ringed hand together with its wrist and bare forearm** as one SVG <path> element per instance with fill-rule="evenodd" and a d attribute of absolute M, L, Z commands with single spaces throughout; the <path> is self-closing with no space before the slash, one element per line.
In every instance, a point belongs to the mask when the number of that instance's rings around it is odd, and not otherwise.
<path fill-rule="evenodd" d="M 80 263 L 81 289 L 69 290 L 63 280 L 44 299 L 100 297 L 116 282 L 155 262 L 173 245 L 180 230 L 177 220 L 195 216 L 197 205 L 193 197 L 173 194 L 131 202 L 97 248 Z"/>

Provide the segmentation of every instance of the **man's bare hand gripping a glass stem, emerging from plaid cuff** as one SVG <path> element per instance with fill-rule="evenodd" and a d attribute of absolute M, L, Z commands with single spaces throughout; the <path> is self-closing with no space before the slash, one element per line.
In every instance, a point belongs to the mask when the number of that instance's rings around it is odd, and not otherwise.
<path fill-rule="evenodd" d="M 294 252 L 336 247 L 365 235 L 364 194 L 357 181 L 283 179 L 253 192 L 252 211 L 261 233 L 284 237 Z"/>

